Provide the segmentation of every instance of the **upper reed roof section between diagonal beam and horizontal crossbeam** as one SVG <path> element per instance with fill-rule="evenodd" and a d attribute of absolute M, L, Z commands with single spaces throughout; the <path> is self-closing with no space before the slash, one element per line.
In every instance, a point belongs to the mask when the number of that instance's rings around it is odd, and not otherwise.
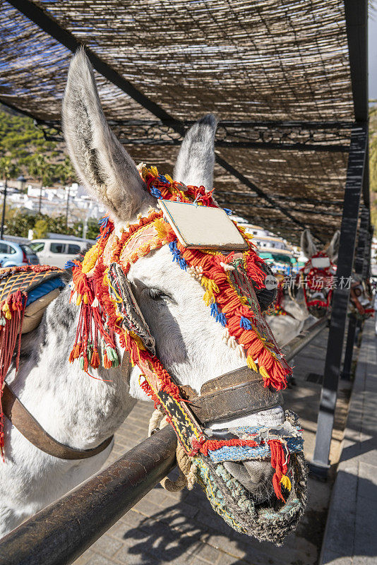
<path fill-rule="evenodd" d="M 340 0 L 37 4 L 175 118 L 352 119 Z"/>

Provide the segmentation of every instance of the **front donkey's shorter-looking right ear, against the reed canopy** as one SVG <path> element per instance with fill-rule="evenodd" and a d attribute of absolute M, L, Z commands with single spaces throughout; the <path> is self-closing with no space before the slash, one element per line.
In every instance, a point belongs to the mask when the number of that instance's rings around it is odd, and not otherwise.
<path fill-rule="evenodd" d="M 188 130 L 176 159 L 176 181 L 213 189 L 216 126 L 215 116 L 207 114 Z"/>

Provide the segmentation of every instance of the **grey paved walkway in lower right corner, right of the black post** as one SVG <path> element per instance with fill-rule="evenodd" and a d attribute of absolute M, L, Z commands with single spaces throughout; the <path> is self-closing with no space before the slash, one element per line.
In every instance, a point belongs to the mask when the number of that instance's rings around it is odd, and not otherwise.
<path fill-rule="evenodd" d="M 364 327 L 322 565 L 377 563 L 377 337 Z"/>

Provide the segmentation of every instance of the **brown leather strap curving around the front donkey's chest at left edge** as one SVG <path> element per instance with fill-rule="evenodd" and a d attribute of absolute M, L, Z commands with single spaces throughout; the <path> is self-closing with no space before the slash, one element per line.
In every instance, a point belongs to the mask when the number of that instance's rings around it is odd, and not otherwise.
<path fill-rule="evenodd" d="M 4 383 L 3 396 L 1 398 L 4 415 L 10 420 L 20 434 L 30 441 L 35 447 L 59 459 L 87 459 L 104 451 L 112 442 L 113 436 L 108 437 L 102 444 L 91 449 L 75 449 L 65 446 L 56 441 L 52 436 L 44 431 L 25 406 L 20 403 L 11 388 Z"/>

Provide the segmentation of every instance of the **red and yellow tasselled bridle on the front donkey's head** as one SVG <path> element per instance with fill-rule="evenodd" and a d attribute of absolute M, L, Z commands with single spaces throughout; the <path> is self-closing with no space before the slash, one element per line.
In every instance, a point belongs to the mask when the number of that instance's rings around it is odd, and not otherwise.
<path fill-rule="evenodd" d="M 158 174 L 155 167 L 143 167 L 141 174 L 148 190 L 157 198 L 217 207 L 212 193 L 203 186 L 184 186 Z M 280 404 L 279 391 L 285 388 L 286 376 L 291 373 L 261 316 L 254 290 L 254 287 L 258 290 L 264 287 L 265 264 L 256 254 L 249 236 L 240 227 L 238 229 L 247 242 L 247 250 L 223 254 L 185 248 L 164 221 L 162 212 L 156 209 L 151 208 L 144 217 L 139 215 L 138 223 L 129 225 L 120 236 L 115 234 L 109 218 L 104 218 L 97 244 L 88 251 L 83 263 L 70 264 L 73 267 L 71 300 L 80 307 L 70 361 L 78 359 L 84 371 L 98 367 L 101 341 L 102 364 L 107 368 L 116 367 L 119 364 L 117 338 L 121 349 L 129 353 L 131 362 L 140 369 L 141 388 L 155 401 L 155 406 L 164 411 L 188 456 L 208 456 L 209 452 L 225 446 L 248 446 L 258 451 L 262 445 L 267 456 L 275 449 L 284 462 L 289 441 L 299 435 L 297 429 L 288 432 L 286 428 L 281 437 L 277 433 L 274 439 L 261 438 L 258 443 L 257 432 L 251 434 L 243 430 L 237 436 L 228 431 L 229 438 L 214 439 L 205 427 L 210 421 Z M 164 245 L 169 246 L 172 262 L 203 286 L 203 299 L 210 314 L 224 326 L 224 339 L 246 361 L 241 370 L 205 383 L 199 396 L 179 386 L 155 355 L 155 340 L 127 279 L 133 263 Z M 282 442 L 283 434 L 286 435 Z M 281 477 L 284 465 L 278 466 Z M 280 483 L 274 486 L 277 496 L 283 499 Z"/>

